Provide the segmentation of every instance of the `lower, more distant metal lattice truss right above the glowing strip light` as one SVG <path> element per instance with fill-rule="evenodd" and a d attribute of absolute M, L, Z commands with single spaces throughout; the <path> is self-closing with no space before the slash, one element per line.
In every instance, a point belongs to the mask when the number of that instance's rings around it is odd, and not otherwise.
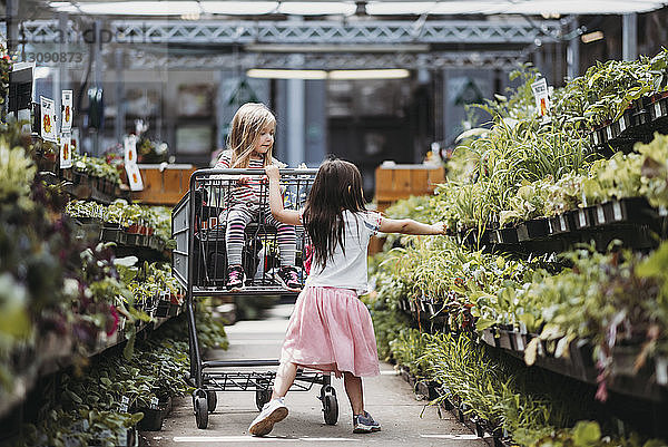
<path fill-rule="evenodd" d="M 295 69 L 371 69 L 371 68 L 489 68 L 511 70 L 528 59 L 522 51 L 430 52 L 425 55 L 360 55 L 360 54 L 240 54 L 214 56 L 155 55 L 144 52 L 128 58 L 127 69 L 240 69 L 295 68 Z"/>

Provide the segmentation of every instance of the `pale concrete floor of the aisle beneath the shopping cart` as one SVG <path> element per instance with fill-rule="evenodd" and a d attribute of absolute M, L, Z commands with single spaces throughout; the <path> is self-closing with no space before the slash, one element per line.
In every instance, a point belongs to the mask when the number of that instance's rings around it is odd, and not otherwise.
<path fill-rule="evenodd" d="M 210 359 L 277 359 L 292 304 L 276 305 L 261 321 L 239 321 L 226 327 L 229 349 L 214 350 Z M 261 370 L 266 370 L 261 369 Z M 209 415 L 208 427 L 197 429 L 189 397 L 178 399 L 165 419 L 161 431 L 145 431 L 141 444 L 151 447 L 180 446 L 452 446 L 483 447 L 487 444 L 456 421 L 449 411 L 426 407 L 416 400 L 412 388 L 394 368 L 381 363 L 381 376 L 364 379 L 366 410 L 381 422 L 382 431 L 370 435 L 352 433 L 352 411 L 343 381 L 334 379 L 338 400 L 338 422 L 325 425 L 317 399 L 320 386 L 311 391 L 287 395 L 288 417 L 264 438 L 248 435 L 248 425 L 257 416 L 255 392 L 218 392 L 218 405 Z"/>

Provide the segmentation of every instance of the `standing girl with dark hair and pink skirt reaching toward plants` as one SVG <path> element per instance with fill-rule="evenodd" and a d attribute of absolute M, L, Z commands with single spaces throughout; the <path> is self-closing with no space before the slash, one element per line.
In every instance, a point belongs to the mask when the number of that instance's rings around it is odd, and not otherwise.
<path fill-rule="evenodd" d="M 362 377 L 380 375 L 373 323 L 357 298 L 367 290 L 366 249 L 377 231 L 403 234 L 444 234 L 433 225 L 410 218 L 392 220 L 367 212 L 362 176 L 355 165 L 341 159 L 323 163 L 302 211 L 284 210 L 278 167 L 266 166 L 269 207 L 288 225 L 304 225 L 313 244 L 313 264 L 299 293 L 283 342 L 272 400 L 248 427 L 255 436 L 272 431 L 287 416 L 284 398 L 297 367 L 343 376 L 353 410 L 353 433 L 381 429 L 364 410 Z"/>

